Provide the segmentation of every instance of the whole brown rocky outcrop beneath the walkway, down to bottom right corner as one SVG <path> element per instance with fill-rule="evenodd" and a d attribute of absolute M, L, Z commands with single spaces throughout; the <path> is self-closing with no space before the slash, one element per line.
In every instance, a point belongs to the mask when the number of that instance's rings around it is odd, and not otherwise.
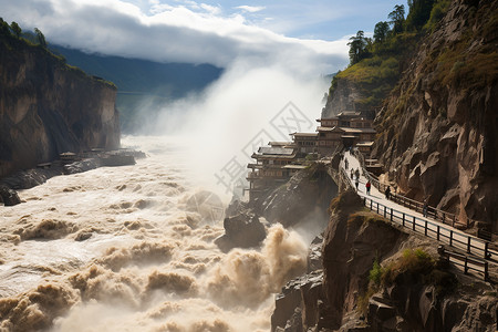
<path fill-rule="evenodd" d="M 347 191 L 332 201 L 323 271 L 317 266 L 282 288 L 272 331 L 496 330 L 492 284 L 435 263 L 436 242 L 365 212 L 359 200 Z M 406 255 L 416 250 L 424 259 Z M 386 284 L 375 286 L 371 277 L 375 261 L 390 271 L 383 272 L 392 279 Z"/>

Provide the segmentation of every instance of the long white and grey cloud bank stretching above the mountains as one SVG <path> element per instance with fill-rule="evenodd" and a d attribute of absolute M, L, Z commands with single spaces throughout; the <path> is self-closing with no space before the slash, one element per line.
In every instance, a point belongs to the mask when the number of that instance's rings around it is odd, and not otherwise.
<path fill-rule="evenodd" d="M 235 61 L 279 63 L 314 74 L 347 62 L 346 40 L 287 38 L 248 24 L 242 14 L 224 17 L 220 7 L 190 0 L 148 3 L 146 13 L 123 0 L 0 0 L 4 20 L 38 27 L 50 42 L 103 54 L 222 68 Z"/>

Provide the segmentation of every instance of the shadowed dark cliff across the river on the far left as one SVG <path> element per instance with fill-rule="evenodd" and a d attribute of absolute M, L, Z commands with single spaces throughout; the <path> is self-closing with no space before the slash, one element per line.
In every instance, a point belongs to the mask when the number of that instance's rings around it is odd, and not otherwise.
<path fill-rule="evenodd" d="M 63 152 L 120 146 L 116 89 L 0 34 L 0 177 Z"/>

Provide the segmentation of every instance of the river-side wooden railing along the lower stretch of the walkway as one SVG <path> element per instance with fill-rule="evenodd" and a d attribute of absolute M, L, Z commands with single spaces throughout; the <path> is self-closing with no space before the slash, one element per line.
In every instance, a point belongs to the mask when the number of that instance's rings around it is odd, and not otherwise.
<path fill-rule="evenodd" d="M 398 211 L 369 197 L 363 197 L 363 204 L 372 211 L 383 216 L 384 218 L 400 224 L 405 228 L 409 228 L 413 231 L 423 234 L 424 236 L 433 238 L 439 242 L 449 245 L 449 247 L 465 250 L 467 253 L 484 259 L 490 259 L 491 256 L 498 257 L 498 251 L 490 249 L 489 241 L 484 241 L 464 232 L 446 228 L 439 224 L 434 224 L 426 219 L 421 219 Z"/>

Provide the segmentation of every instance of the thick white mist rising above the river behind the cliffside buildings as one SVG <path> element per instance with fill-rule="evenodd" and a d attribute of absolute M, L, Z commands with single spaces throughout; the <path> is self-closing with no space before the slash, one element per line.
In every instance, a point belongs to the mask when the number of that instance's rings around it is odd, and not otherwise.
<path fill-rule="evenodd" d="M 237 180 L 220 180 L 224 168 L 239 167 L 237 178 L 243 178 L 239 173 L 243 168 L 247 174 L 259 146 L 315 129 L 330 82 L 307 65 L 291 66 L 293 62 L 235 61 L 201 93 L 160 106 L 141 132 L 175 137 L 199 185 L 230 199 L 228 187 Z M 151 106 L 145 102 L 142 110 L 149 114 Z"/>

